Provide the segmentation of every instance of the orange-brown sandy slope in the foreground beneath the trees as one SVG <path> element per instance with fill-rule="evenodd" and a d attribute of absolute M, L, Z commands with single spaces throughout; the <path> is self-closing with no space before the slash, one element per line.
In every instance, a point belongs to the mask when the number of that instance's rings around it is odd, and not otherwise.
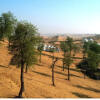
<path fill-rule="evenodd" d="M 20 69 L 9 65 L 11 55 L 7 43 L 0 47 L 0 97 L 15 97 L 20 87 Z M 78 60 L 76 61 L 78 62 Z M 56 87 L 51 85 L 51 59 L 42 56 L 42 63 L 37 64 L 24 73 L 25 92 L 23 97 L 38 98 L 77 98 L 100 97 L 100 81 L 86 77 L 81 72 L 71 70 L 71 81 L 67 79 L 67 70 L 61 69 L 61 61 L 55 67 Z M 71 68 L 75 69 L 73 64 Z"/>

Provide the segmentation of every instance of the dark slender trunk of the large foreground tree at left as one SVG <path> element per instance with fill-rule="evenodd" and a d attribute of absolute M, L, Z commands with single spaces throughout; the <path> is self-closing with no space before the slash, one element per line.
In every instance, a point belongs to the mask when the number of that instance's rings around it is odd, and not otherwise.
<path fill-rule="evenodd" d="M 21 76 L 20 76 L 21 87 L 20 87 L 20 92 L 18 95 L 19 98 L 22 98 L 22 93 L 24 91 L 24 77 L 23 77 L 24 73 L 23 73 L 23 71 L 24 71 L 24 62 L 21 61 Z"/>

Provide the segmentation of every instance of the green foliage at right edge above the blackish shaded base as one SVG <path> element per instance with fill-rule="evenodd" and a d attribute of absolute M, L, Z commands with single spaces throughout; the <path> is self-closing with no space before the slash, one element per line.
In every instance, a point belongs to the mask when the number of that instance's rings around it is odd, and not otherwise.
<path fill-rule="evenodd" d="M 86 70 L 89 69 L 92 72 L 96 71 L 100 64 L 100 45 L 98 45 L 96 42 L 85 42 L 83 49 L 85 51 L 83 53 L 85 53 L 85 55 L 87 54 L 87 56 L 84 58 L 84 60 L 87 62 Z"/>

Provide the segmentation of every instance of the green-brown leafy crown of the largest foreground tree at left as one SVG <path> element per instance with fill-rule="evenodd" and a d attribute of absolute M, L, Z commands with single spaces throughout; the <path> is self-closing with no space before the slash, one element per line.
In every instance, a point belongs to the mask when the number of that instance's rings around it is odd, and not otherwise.
<path fill-rule="evenodd" d="M 36 62 L 37 30 L 27 22 L 19 22 L 12 37 L 12 51 L 17 57 L 17 64 L 32 65 Z"/>

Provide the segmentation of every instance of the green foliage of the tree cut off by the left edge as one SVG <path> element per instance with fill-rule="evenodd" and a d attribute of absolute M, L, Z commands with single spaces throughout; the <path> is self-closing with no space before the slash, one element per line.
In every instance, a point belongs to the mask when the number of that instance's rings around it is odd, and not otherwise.
<path fill-rule="evenodd" d="M 11 12 L 3 13 L 0 17 L 0 38 L 8 38 L 14 34 L 17 20 Z"/>

